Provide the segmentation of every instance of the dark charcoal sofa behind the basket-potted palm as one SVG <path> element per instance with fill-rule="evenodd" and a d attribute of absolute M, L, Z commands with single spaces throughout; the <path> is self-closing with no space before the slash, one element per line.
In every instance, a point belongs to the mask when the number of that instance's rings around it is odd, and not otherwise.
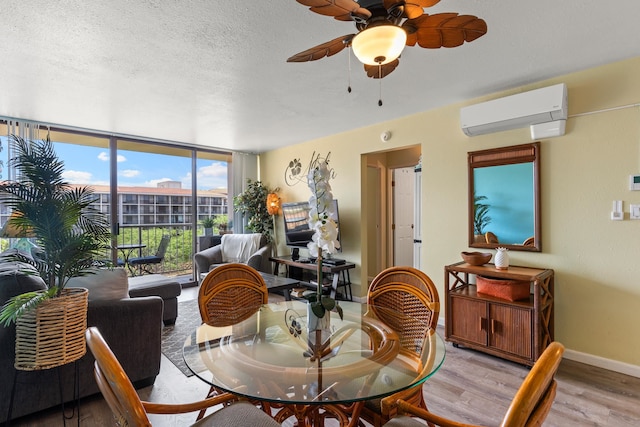
<path fill-rule="evenodd" d="M 29 264 L 0 258 L 0 304 L 14 295 L 45 289 L 39 276 L 24 274 L 29 268 Z M 102 286 L 93 294 L 90 289 L 87 325 L 98 327 L 134 385 L 145 387 L 153 384 L 160 372 L 162 298 L 129 298 L 126 273 L 115 270 L 111 274 L 120 283 L 124 280 L 124 289 L 119 286 L 120 290 L 115 291 Z M 124 279 L 121 274 L 124 274 Z M 16 373 L 14 357 L 15 325 L 0 325 L 0 423 L 6 421 L 9 410 Z M 89 351 L 77 362 L 80 397 L 99 392 L 93 377 L 93 362 Z M 61 369 L 65 401 L 73 400 L 73 363 L 50 370 L 19 371 L 12 419 L 60 404 L 57 369 Z"/>

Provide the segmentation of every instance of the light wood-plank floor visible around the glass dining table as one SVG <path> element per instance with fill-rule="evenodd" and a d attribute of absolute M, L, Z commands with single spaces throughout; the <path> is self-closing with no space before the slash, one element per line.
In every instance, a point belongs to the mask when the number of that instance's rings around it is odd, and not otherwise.
<path fill-rule="evenodd" d="M 185 289 L 181 299 L 194 298 L 193 289 Z M 521 365 L 447 344 L 443 366 L 423 386 L 425 399 L 430 410 L 446 417 L 499 425 L 527 372 L 528 368 Z M 640 426 L 640 378 L 563 360 L 556 379 L 558 393 L 546 426 Z M 180 403 L 200 400 L 207 390 L 201 380 L 185 377 L 163 356 L 155 384 L 139 393 L 145 400 Z M 173 427 L 193 423 L 195 415 L 150 418 L 155 426 Z M 81 402 L 80 422 L 92 427 L 115 425 L 100 396 Z M 12 425 L 61 426 L 62 420 L 59 409 L 54 408 L 15 420 Z M 67 421 L 67 425 L 76 425 L 76 420 Z"/>

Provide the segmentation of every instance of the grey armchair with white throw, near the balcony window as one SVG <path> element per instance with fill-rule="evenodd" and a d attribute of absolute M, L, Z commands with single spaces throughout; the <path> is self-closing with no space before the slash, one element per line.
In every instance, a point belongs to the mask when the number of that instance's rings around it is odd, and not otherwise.
<path fill-rule="evenodd" d="M 228 250 L 231 247 L 231 250 Z M 202 280 L 202 275 L 208 273 L 217 265 L 228 262 L 241 262 L 258 271 L 271 273 L 271 244 L 267 238 L 259 233 L 254 234 L 225 234 L 219 245 L 204 249 L 193 256 L 196 277 Z"/>

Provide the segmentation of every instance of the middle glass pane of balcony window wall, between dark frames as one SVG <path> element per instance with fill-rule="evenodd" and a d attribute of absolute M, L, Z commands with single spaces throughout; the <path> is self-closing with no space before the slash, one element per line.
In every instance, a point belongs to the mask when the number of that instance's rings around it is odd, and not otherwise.
<path fill-rule="evenodd" d="M 132 255 L 158 255 L 164 271 L 190 271 L 192 150 L 122 139 L 116 144 L 117 245 L 144 245 Z M 159 252 L 165 236 L 169 245 Z"/>

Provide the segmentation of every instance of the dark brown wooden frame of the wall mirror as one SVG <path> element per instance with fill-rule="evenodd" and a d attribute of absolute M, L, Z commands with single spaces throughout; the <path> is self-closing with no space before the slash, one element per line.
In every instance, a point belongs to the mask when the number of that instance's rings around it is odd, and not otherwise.
<path fill-rule="evenodd" d="M 540 142 L 513 145 L 509 147 L 491 148 L 488 150 L 472 151 L 468 155 L 469 173 L 469 247 L 495 249 L 497 247 L 516 251 L 541 252 L 540 242 Z M 533 195 L 534 195 L 534 233 L 533 245 L 503 244 L 476 242 L 474 234 L 474 170 L 488 166 L 512 165 L 518 163 L 533 163 Z M 524 243 L 524 242 L 523 242 Z"/>

